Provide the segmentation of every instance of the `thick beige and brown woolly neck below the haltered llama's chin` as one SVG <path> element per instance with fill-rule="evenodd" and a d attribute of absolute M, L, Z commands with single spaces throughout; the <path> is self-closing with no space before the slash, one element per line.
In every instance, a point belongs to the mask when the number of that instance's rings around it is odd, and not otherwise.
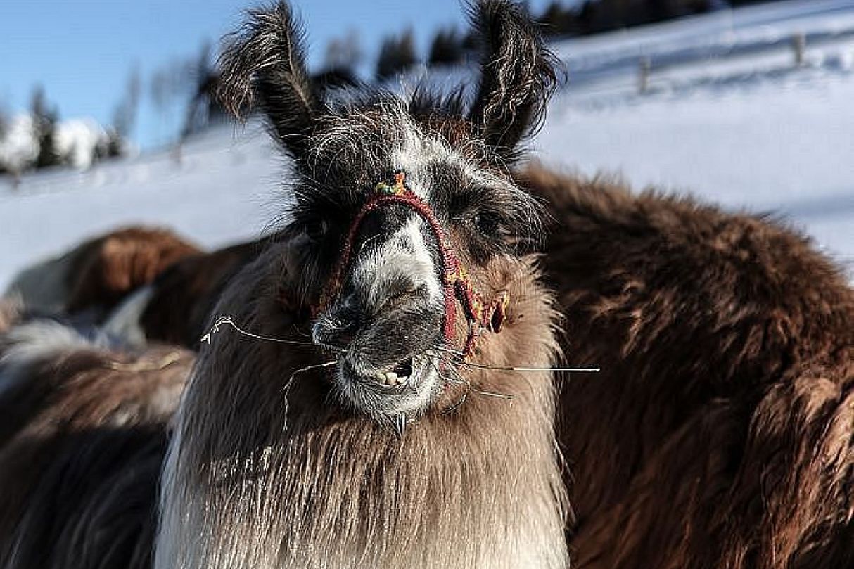
<path fill-rule="evenodd" d="M 518 351 L 548 361 L 533 345 Z M 512 401 L 470 396 L 398 437 L 331 401 L 323 371 L 285 390 L 318 360 L 276 350 L 202 354 L 164 471 L 158 569 L 566 566 L 548 374 L 488 372 Z"/>

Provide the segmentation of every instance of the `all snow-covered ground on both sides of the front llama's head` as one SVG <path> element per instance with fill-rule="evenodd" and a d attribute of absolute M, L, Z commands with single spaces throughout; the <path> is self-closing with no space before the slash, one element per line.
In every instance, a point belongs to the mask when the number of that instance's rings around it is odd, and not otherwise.
<path fill-rule="evenodd" d="M 807 40 L 793 65 L 792 36 Z M 854 274 L 854 2 L 718 12 L 555 46 L 570 71 L 535 155 L 728 208 L 774 211 Z M 638 90 L 641 57 L 652 68 Z M 284 163 L 257 129 L 222 129 L 85 173 L 0 178 L 0 290 L 26 264 L 131 223 L 208 247 L 282 211 Z"/>

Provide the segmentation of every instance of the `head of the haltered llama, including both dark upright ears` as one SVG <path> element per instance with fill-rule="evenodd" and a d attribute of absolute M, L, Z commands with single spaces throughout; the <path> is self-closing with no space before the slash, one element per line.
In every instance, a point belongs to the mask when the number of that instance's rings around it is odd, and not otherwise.
<path fill-rule="evenodd" d="M 508 168 L 541 122 L 553 56 L 512 3 L 477 3 L 471 17 L 483 61 L 467 105 L 462 90 L 322 100 L 284 3 L 250 12 L 222 60 L 225 103 L 260 109 L 293 159 L 285 233 L 302 240 L 313 340 L 339 356 L 342 401 L 374 419 L 427 411 L 453 351 L 482 327 L 490 342 L 512 275 L 531 274 L 540 212 Z"/>

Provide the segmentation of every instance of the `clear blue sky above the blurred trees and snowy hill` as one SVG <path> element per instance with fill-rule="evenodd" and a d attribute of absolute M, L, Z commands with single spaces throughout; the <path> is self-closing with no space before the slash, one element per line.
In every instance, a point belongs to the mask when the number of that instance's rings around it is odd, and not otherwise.
<path fill-rule="evenodd" d="M 155 114 L 148 79 L 177 57 L 196 56 L 206 40 L 233 30 L 252 0 L 3 0 L 0 9 L 0 109 L 27 108 L 44 86 L 61 119 L 91 116 L 107 124 L 131 68 L 143 79 L 142 109 L 133 132 L 143 146 L 167 141 L 173 127 Z M 369 60 L 384 34 L 412 26 L 422 53 L 438 26 L 462 25 L 459 0 L 295 0 L 310 45 L 322 62 L 330 38 L 360 34 Z M 547 0 L 531 0 L 541 10 Z"/>

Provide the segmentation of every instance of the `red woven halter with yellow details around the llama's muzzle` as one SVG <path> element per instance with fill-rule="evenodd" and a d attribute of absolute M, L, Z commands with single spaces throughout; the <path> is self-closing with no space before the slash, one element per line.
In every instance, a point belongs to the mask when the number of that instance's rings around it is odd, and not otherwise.
<path fill-rule="evenodd" d="M 439 220 L 436 219 L 433 209 L 430 208 L 427 202 L 424 202 L 424 200 L 407 187 L 406 179 L 407 174 L 399 171 L 395 172 L 395 183 L 393 185 L 385 182 L 377 184 L 373 193 L 365 202 L 365 205 L 356 214 L 353 224 L 350 226 L 347 241 L 344 243 L 341 260 L 338 261 L 335 273 L 332 274 L 332 279 L 330 279 L 321 296 L 320 306 L 328 306 L 331 299 L 339 294 L 342 285 L 342 275 L 347 270 L 350 255 L 353 251 L 354 239 L 365 216 L 378 208 L 399 203 L 420 215 L 427 222 L 427 225 L 430 226 L 430 231 L 436 237 L 436 243 L 439 244 L 439 250 L 442 255 L 442 290 L 445 297 L 445 317 L 442 321 L 442 335 L 446 343 L 453 343 L 453 331 L 457 318 L 454 299 L 459 299 L 466 319 L 469 321 L 469 334 L 465 340 L 463 351 L 466 356 L 471 355 L 477 342 L 477 337 L 484 328 L 493 332 L 501 330 L 510 296 L 506 291 L 502 291 L 495 297 L 493 302 L 487 304 L 483 301 L 483 296 L 480 296 L 471 284 L 471 279 L 465 271 L 465 267 L 462 266 L 457 255 L 454 255 L 453 250 L 448 246 L 445 232 L 442 231 L 442 226 L 439 224 Z"/>

